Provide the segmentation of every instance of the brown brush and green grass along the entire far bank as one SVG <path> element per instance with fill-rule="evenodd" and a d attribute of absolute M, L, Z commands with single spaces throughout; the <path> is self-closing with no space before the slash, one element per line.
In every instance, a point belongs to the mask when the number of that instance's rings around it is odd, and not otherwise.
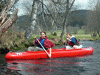
<path fill-rule="evenodd" d="M 47 33 L 47 37 L 48 39 L 50 39 L 53 43 L 55 44 L 60 44 L 60 33 L 61 30 L 57 31 L 57 36 L 51 35 L 50 33 Z M 77 39 L 84 39 L 84 40 L 100 40 L 99 36 L 91 37 L 91 34 L 85 34 L 83 29 L 78 30 L 77 34 L 73 34 L 72 31 L 72 35 L 74 35 Z M 4 34 L 4 36 L 2 37 L 2 44 L 0 44 L 1 47 L 3 48 L 8 48 L 13 51 L 18 51 L 18 50 L 26 50 L 26 48 L 28 48 L 29 46 L 31 46 L 30 43 L 33 44 L 34 41 L 34 37 L 39 38 L 41 35 L 32 35 L 32 38 L 30 39 L 30 41 L 28 42 L 26 40 L 26 38 L 24 37 L 24 33 L 21 32 L 15 32 L 15 31 L 10 31 L 9 33 L 6 31 L 6 33 Z M 64 35 L 64 41 L 66 41 L 66 37 L 67 34 Z M 5 40 L 6 39 L 6 40 Z"/>

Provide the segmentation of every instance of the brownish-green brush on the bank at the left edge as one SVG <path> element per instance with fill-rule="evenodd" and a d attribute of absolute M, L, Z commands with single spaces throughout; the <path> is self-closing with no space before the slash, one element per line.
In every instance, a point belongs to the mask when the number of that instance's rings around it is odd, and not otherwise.
<path fill-rule="evenodd" d="M 15 32 L 14 30 L 10 30 L 6 31 L 2 36 L 0 48 L 6 47 L 7 49 L 18 49 L 20 48 L 20 45 L 25 42 L 28 44 L 23 32 L 21 33 Z"/>

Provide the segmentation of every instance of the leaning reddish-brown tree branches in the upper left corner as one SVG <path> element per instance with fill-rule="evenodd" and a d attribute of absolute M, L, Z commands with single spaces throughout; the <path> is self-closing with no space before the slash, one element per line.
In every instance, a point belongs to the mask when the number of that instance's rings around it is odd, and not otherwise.
<path fill-rule="evenodd" d="M 9 12 L 17 0 L 2 0 L 1 1 L 1 15 L 0 15 L 0 38 L 4 32 L 16 21 L 18 18 L 18 9 L 15 9 L 13 14 L 10 15 Z M 3 3 L 3 5 L 2 5 Z"/>

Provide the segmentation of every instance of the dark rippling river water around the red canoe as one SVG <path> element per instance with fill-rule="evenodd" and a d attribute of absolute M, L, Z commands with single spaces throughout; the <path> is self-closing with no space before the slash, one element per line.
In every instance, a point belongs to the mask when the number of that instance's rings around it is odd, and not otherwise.
<path fill-rule="evenodd" d="M 0 54 L 0 75 L 100 75 L 100 42 L 80 41 L 80 43 L 84 47 L 93 47 L 93 55 L 7 61 L 5 54 Z"/>

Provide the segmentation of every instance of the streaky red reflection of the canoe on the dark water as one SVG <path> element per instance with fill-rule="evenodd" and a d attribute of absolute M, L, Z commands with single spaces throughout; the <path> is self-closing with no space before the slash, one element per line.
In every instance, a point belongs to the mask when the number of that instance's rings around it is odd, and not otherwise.
<path fill-rule="evenodd" d="M 20 74 L 77 74 L 85 71 L 78 58 L 59 58 L 43 60 L 7 60 L 7 69 Z M 71 71 L 73 69 L 73 71 Z"/>

